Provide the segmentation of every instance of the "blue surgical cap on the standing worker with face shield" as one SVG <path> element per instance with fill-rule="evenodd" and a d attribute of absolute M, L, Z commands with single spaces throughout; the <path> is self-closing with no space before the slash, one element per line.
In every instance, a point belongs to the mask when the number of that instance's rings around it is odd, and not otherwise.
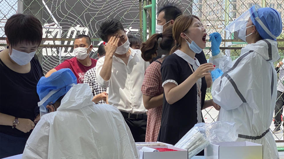
<path fill-rule="evenodd" d="M 267 32 L 262 28 L 262 26 L 255 19 L 259 17 L 262 23 L 267 27 L 267 29 L 274 35 L 278 37 L 282 32 L 282 20 L 281 16 L 277 10 L 273 8 L 259 8 L 257 11 L 254 10 L 254 7 L 250 9 L 251 20 L 256 27 L 257 32 L 262 37 L 262 39 L 271 39 L 276 40 L 276 38 L 271 37 Z"/>

